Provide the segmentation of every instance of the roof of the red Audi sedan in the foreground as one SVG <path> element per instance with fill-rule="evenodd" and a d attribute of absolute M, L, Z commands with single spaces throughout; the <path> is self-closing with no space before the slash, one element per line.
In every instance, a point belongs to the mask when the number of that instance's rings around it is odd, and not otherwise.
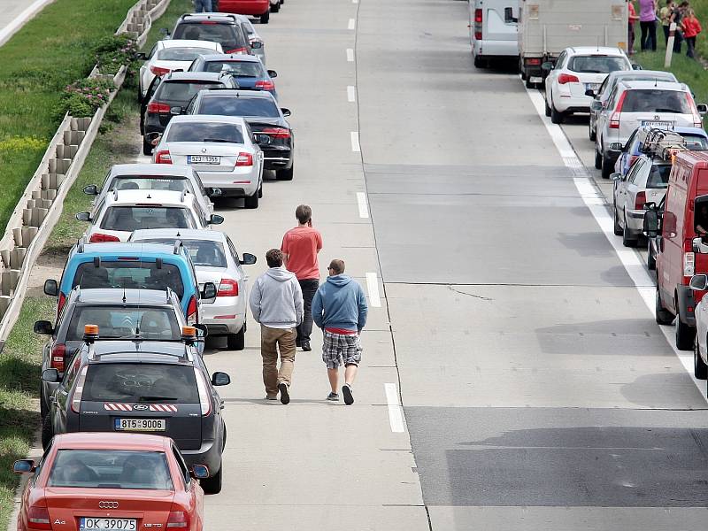
<path fill-rule="evenodd" d="M 58 450 L 151 450 L 169 449 L 172 439 L 162 435 L 122 434 L 112 432 L 74 432 L 54 437 Z"/>

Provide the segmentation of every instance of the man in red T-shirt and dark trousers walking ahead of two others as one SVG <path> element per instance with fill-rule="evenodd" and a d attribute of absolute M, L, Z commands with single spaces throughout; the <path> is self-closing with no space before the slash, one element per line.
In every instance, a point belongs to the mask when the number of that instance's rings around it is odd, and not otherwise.
<path fill-rule="evenodd" d="M 304 317 L 297 327 L 296 346 L 303 350 L 312 350 L 312 297 L 319 288 L 319 265 L 317 253 L 322 249 L 322 235 L 312 228 L 312 209 L 301 204 L 295 210 L 297 227 L 291 228 L 282 238 L 281 251 L 284 266 L 295 273 L 300 288 L 303 290 Z"/>

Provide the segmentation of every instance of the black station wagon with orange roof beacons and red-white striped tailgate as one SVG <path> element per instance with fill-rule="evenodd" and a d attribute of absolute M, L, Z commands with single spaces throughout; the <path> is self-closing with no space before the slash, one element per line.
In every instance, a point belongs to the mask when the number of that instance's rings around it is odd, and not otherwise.
<path fill-rule="evenodd" d="M 96 341 L 100 334 L 100 327 L 86 327 L 63 378 L 57 369 L 42 372 L 43 381 L 58 383 L 42 423 L 42 446 L 56 434 L 80 431 L 165 435 L 189 466 L 209 467 L 212 476 L 202 488 L 218 493 L 227 429 L 214 388 L 230 379 L 227 373 L 210 377 L 194 348 L 195 328 L 183 329 L 184 342 Z"/>

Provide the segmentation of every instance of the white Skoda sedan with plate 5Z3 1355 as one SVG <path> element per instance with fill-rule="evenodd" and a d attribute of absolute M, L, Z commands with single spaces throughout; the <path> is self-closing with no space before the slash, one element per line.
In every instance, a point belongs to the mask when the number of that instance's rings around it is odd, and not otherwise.
<path fill-rule="evenodd" d="M 241 117 L 175 116 L 152 161 L 190 165 L 204 186 L 220 189 L 221 196 L 243 197 L 246 208 L 258 208 L 263 196 L 263 151 Z"/>

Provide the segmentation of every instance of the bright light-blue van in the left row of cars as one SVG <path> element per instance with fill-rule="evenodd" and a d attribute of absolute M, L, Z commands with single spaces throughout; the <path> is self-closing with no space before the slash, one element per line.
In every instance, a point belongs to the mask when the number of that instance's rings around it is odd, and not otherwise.
<path fill-rule="evenodd" d="M 188 324 L 202 322 L 202 299 L 216 297 L 216 286 L 204 284 L 202 291 L 189 250 L 181 242 L 160 243 L 84 243 L 80 240 L 69 251 L 61 281 L 44 282 L 44 293 L 56 296 L 57 316 L 62 314 L 72 289 L 172 289 L 180 298 Z"/>

